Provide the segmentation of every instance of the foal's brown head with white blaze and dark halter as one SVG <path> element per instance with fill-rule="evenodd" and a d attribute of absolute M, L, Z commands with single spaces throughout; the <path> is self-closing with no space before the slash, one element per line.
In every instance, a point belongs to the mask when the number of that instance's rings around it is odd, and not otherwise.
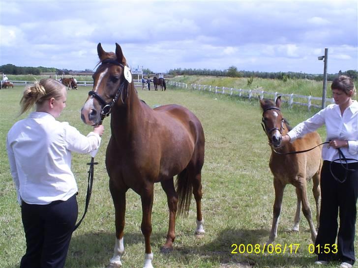
<path fill-rule="evenodd" d="M 260 100 L 262 113 L 262 127 L 269 137 L 269 142 L 274 147 L 279 147 L 282 140 L 282 130 L 284 130 L 284 118 L 282 117 L 280 105 L 281 97 L 276 99 L 276 104 L 270 100 Z"/>

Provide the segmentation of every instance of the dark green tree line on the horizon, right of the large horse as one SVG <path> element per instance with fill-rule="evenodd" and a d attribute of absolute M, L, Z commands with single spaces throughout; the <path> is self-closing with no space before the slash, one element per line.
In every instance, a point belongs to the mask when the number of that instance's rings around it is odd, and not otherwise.
<path fill-rule="evenodd" d="M 239 71 L 236 66 L 230 66 L 226 70 L 210 70 L 210 69 L 171 69 L 170 75 L 204 75 L 204 76 L 225 76 L 225 77 L 244 77 L 244 78 L 263 78 L 263 79 L 309 79 L 309 80 L 323 80 L 323 74 L 306 74 L 297 72 L 253 72 L 253 71 Z M 327 80 L 333 80 L 339 75 L 346 75 L 353 80 L 358 79 L 358 71 L 348 70 L 345 72 L 339 71 L 336 74 L 328 74 Z"/>

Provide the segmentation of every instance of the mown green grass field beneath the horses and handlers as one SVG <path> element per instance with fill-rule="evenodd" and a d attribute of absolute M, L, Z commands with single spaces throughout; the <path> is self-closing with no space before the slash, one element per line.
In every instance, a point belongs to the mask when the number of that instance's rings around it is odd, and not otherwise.
<path fill-rule="evenodd" d="M 67 107 L 60 121 L 68 121 L 81 133 L 91 127 L 80 120 L 80 108 L 90 88 L 68 91 Z M 0 90 L 0 267 L 15 268 L 25 252 L 26 244 L 21 222 L 20 207 L 9 172 L 5 138 L 12 124 L 25 117 L 16 117 L 23 87 Z M 269 171 L 270 149 L 261 128 L 259 103 L 218 96 L 206 92 L 172 90 L 138 90 L 141 99 L 150 107 L 176 103 L 192 110 L 201 120 L 206 135 L 206 156 L 203 167 L 203 217 L 206 235 L 194 236 L 195 204 L 192 201 L 189 216 L 178 218 L 175 249 L 161 255 L 168 228 L 166 196 L 159 184 L 154 188 L 151 245 L 155 268 L 241 268 L 241 267 L 314 267 L 315 255 L 309 253 L 310 232 L 307 221 L 301 216 L 300 232 L 291 232 L 296 209 L 293 186 L 287 186 L 283 199 L 278 237 L 279 245 L 294 246 L 293 252 L 232 254 L 233 244 L 263 244 L 269 238 L 272 221 L 274 190 Z M 283 108 L 282 112 L 292 126 L 311 116 L 304 109 Z M 108 189 L 105 169 L 105 148 L 110 137 L 109 118 L 102 146 L 96 156 L 94 186 L 89 212 L 75 231 L 70 244 L 66 268 L 104 268 L 109 264 L 115 245 L 114 207 Z M 325 138 L 325 130 L 319 130 Z M 89 155 L 74 154 L 72 170 L 79 186 L 79 217 L 82 216 L 87 188 L 86 163 Z M 312 183 L 308 184 L 312 188 Z M 315 215 L 312 192 L 309 189 L 311 210 Z M 123 268 L 141 268 L 144 261 L 144 238 L 141 233 L 140 198 L 132 190 L 127 192 L 126 226 L 124 229 L 125 253 Z M 357 237 L 356 237 L 357 240 Z M 297 248 L 297 251 L 296 251 Z M 239 252 L 239 250 L 237 250 Z M 358 251 L 356 245 L 356 252 Z M 334 264 L 330 267 L 337 267 Z"/>

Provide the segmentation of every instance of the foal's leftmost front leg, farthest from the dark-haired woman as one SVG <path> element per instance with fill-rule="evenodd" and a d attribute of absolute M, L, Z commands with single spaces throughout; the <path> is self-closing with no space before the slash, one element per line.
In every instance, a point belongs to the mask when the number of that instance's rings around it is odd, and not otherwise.
<path fill-rule="evenodd" d="M 281 213 L 283 190 L 285 189 L 285 185 L 283 185 L 278 179 L 274 177 L 273 187 L 275 188 L 275 201 L 273 203 L 273 218 L 272 218 L 271 232 L 267 244 L 272 244 L 272 242 L 277 237 L 278 219 Z"/>

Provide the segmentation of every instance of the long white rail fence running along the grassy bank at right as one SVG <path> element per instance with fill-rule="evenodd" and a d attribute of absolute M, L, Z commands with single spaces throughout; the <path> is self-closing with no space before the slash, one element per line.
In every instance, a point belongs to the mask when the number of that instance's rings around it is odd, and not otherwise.
<path fill-rule="evenodd" d="M 301 105 L 307 106 L 308 110 L 311 107 L 321 108 L 322 107 L 322 98 L 321 97 L 312 97 L 312 96 L 304 96 L 304 95 L 297 95 L 297 94 L 283 94 L 279 92 L 268 92 L 263 90 L 262 87 L 256 89 L 242 89 L 242 88 L 229 88 L 229 87 L 220 87 L 220 86 L 211 86 L 211 85 L 202 85 L 202 84 L 190 84 L 175 82 L 175 81 L 168 81 L 166 82 L 168 85 L 181 87 L 185 89 L 194 89 L 194 90 L 203 90 L 208 92 L 213 92 L 215 94 L 226 94 L 230 96 L 237 96 L 242 98 L 267 98 L 276 100 L 278 96 L 281 96 L 283 102 L 288 103 L 289 107 L 291 108 L 293 105 Z M 334 103 L 333 99 L 326 99 L 326 105 L 329 103 Z"/>

